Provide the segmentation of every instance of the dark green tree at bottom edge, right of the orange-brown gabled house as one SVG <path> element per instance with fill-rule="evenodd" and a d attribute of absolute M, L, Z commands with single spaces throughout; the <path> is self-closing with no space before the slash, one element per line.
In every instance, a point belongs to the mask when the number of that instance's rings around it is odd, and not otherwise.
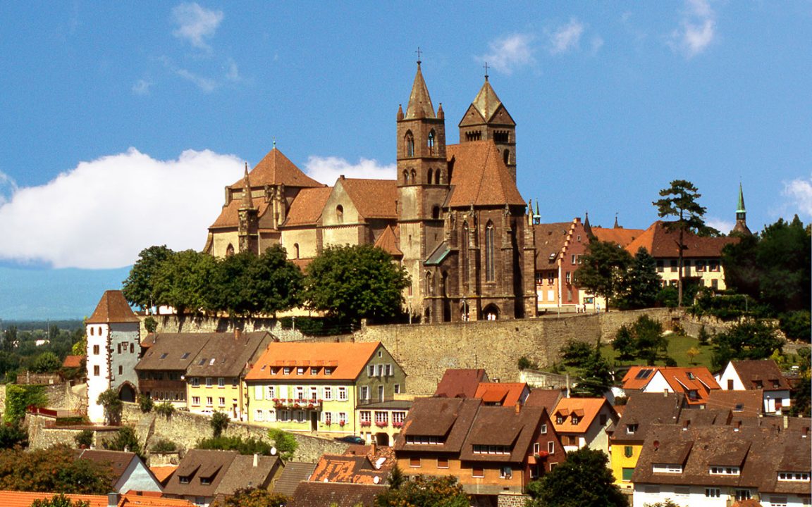
<path fill-rule="evenodd" d="M 567 453 L 567 459 L 542 479 L 529 484 L 528 507 L 626 507 L 603 451 L 587 447 Z"/>

